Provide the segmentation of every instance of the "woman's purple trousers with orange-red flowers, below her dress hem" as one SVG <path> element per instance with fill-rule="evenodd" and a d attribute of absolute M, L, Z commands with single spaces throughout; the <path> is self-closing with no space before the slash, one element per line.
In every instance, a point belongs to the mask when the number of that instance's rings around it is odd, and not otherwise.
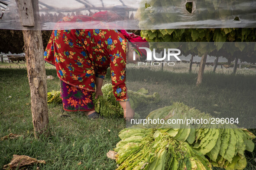
<path fill-rule="evenodd" d="M 66 111 L 94 110 L 92 91 L 86 91 L 61 81 L 61 98 Z"/>

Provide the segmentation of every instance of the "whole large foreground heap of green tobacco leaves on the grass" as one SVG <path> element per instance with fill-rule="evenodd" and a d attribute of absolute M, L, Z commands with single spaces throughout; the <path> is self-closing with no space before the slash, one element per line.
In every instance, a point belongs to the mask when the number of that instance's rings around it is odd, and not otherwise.
<path fill-rule="evenodd" d="M 182 103 L 163 107 L 149 113 L 146 119 L 208 118 L 210 115 Z M 211 118 L 211 117 L 210 117 Z M 165 123 L 163 123 L 165 124 Z M 114 151 L 117 152 L 117 169 L 211 169 L 211 166 L 227 170 L 246 167 L 245 150 L 252 152 L 255 138 L 247 129 L 231 125 L 185 125 L 180 128 L 161 129 L 163 124 L 135 125 L 123 129 Z M 196 129 L 195 129 L 196 128 Z"/>

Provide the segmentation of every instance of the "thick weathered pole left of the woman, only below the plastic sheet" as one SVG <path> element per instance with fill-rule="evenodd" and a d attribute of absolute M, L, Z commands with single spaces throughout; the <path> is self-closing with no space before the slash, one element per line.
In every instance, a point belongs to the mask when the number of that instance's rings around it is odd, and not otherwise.
<path fill-rule="evenodd" d="M 23 30 L 34 134 L 49 135 L 47 86 L 41 31 Z"/>

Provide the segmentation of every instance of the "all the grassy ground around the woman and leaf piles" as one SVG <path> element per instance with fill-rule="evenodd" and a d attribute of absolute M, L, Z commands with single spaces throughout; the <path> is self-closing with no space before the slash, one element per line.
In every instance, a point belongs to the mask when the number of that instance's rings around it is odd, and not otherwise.
<path fill-rule="evenodd" d="M 120 140 L 118 133 L 126 126 L 122 118 L 88 120 L 82 112 L 66 112 L 61 105 L 51 104 L 48 110 L 52 135 L 36 140 L 33 135 L 27 72 L 24 68 L 13 67 L 0 69 L 0 137 L 11 132 L 23 136 L 0 141 L 0 169 L 10 163 L 13 154 L 46 161 L 46 164 L 29 167 L 35 170 L 37 167 L 46 170 L 116 168 L 115 161 L 107 158 L 106 153 L 113 150 Z M 59 90 L 56 70 L 51 66 L 46 68 L 46 75 L 55 77 L 47 80 L 48 91 Z M 144 115 L 174 101 L 182 101 L 214 116 L 255 115 L 255 76 L 205 72 L 200 88 L 195 86 L 196 77 L 195 72 L 161 72 L 128 67 L 127 88 L 136 91 L 144 87 L 150 94 L 160 94 L 161 101 L 156 105 L 139 107 Z M 109 72 L 106 82 L 110 82 Z M 250 131 L 256 134 L 255 129 Z M 256 151 L 246 152 L 246 157 L 246 169 L 256 169 Z"/>

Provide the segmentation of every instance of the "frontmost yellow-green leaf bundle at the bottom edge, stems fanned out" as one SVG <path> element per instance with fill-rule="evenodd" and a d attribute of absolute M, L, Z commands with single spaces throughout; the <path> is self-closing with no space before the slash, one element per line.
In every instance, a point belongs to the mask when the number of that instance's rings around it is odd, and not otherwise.
<path fill-rule="evenodd" d="M 173 139 L 156 129 L 123 129 L 117 152 L 118 170 L 211 170 L 204 155 L 187 142 Z"/>

